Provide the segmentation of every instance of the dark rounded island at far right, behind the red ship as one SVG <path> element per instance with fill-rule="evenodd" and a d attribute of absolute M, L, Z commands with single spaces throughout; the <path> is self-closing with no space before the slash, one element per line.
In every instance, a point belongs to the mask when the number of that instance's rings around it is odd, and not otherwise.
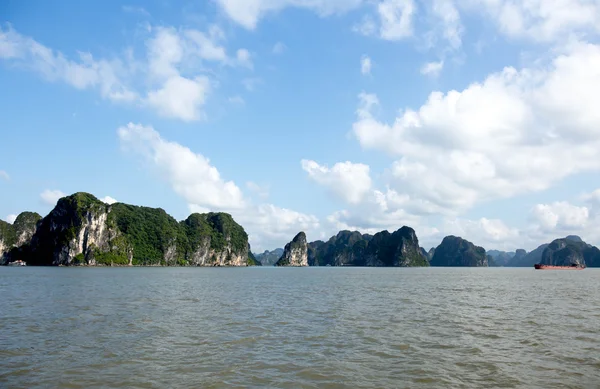
<path fill-rule="evenodd" d="M 577 237 L 579 238 L 579 237 Z M 566 237 L 552 241 L 542 254 L 541 263 L 555 266 L 600 266 L 600 250 L 580 238 Z"/>

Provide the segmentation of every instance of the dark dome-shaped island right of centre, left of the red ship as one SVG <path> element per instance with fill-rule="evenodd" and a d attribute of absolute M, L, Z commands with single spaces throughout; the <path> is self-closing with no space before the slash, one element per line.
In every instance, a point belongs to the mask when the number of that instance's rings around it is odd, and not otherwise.
<path fill-rule="evenodd" d="M 431 266 L 488 266 L 488 259 L 483 247 L 457 236 L 447 236 L 435 249 L 430 262 Z"/>

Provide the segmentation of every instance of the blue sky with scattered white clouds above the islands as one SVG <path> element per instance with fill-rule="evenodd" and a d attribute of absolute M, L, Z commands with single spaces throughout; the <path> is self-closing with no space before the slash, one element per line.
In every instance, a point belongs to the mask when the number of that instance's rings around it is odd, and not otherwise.
<path fill-rule="evenodd" d="M 5 0 L 0 217 L 600 244 L 598 0 Z"/>

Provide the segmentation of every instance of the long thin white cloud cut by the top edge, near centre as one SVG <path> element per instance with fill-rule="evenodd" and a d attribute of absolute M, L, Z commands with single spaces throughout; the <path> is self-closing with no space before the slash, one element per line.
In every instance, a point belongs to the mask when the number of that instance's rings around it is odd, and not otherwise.
<path fill-rule="evenodd" d="M 356 8 L 362 0 L 216 0 L 216 2 L 229 18 L 253 30 L 266 14 L 278 12 L 286 7 L 310 9 L 325 17 Z"/>

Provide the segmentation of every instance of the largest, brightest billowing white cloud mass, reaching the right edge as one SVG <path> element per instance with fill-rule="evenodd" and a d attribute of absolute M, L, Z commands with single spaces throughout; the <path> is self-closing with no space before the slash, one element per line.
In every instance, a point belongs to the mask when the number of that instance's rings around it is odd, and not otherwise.
<path fill-rule="evenodd" d="M 600 170 L 600 46 L 569 46 L 551 63 L 505 68 L 463 91 L 433 92 L 389 125 L 361 94 L 353 131 L 399 159 L 390 184 L 456 212 Z M 510 157 L 508 157 L 510 156 Z"/>

